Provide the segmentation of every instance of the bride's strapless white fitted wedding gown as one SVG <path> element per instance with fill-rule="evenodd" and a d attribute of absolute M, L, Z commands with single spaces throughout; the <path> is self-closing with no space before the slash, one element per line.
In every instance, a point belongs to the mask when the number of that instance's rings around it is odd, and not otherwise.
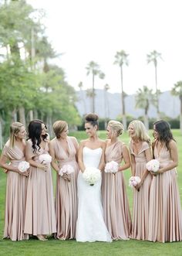
<path fill-rule="evenodd" d="M 103 149 L 83 148 L 83 162 L 86 167 L 98 168 Z M 111 242 L 110 234 L 103 220 L 103 207 L 101 203 L 101 175 L 94 186 L 90 186 L 83 179 L 83 173 L 78 176 L 78 219 L 76 224 L 76 241 Z"/>

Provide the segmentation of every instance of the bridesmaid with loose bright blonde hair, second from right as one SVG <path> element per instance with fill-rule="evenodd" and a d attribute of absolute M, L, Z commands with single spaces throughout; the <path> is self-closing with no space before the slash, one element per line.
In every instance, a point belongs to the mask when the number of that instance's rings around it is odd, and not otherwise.
<path fill-rule="evenodd" d="M 141 182 L 133 191 L 133 228 L 131 238 L 148 239 L 149 196 L 152 176 L 146 163 L 152 159 L 150 137 L 143 122 L 131 121 L 128 127 L 132 176 L 139 176 Z"/>

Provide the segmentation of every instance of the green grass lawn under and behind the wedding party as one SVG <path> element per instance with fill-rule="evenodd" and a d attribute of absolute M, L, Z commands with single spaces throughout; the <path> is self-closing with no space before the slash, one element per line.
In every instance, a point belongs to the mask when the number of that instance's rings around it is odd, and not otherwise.
<path fill-rule="evenodd" d="M 179 151 L 178 184 L 180 190 L 180 200 L 182 202 L 182 135 L 180 131 L 174 130 L 174 138 L 177 141 Z M 105 131 L 99 131 L 99 137 L 105 139 Z M 70 132 L 70 135 L 76 136 L 78 140 L 86 138 L 84 131 Z M 151 135 L 151 132 L 150 132 Z M 152 136 L 151 136 L 152 138 Z M 128 144 L 129 138 L 127 134 L 121 136 L 123 142 Z M 125 172 L 126 184 L 130 177 L 130 169 Z M 54 175 L 55 181 L 55 175 Z M 3 236 L 4 228 L 4 209 L 5 209 L 5 183 L 6 176 L 4 172 L 0 172 L 0 237 Z M 132 189 L 127 186 L 127 194 L 130 200 L 130 210 L 132 212 Z M 86 255 L 86 256 L 115 256 L 115 255 L 182 255 L 182 242 L 175 243 L 152 243 L 148 241 L 113 241 L 113 243 L 78 243 L 76 241 L 56 241 L 49 238 L 49 241 L 37 241 L 31 238 L 29 241 L 12 242 L 9 240 L 0 241 L 0 255 L 13 256 L 56 256 L 56 255 Z"/>

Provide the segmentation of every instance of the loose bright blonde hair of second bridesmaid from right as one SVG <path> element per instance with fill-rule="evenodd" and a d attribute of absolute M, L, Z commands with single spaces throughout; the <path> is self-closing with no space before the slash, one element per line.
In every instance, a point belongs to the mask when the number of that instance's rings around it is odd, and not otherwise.
<path fill-rule="evenodd" d="M 147 129 L 145 128 L 145 125 L 143 125 L 143 122 L 140 120 L 133 120 L 130 122 L 128 127 L 130 125 L 133 125 L 134 128 L 134 136 L 142 142 L 147 142 L 150 144 L 150 136 L 147 133 Z"/>

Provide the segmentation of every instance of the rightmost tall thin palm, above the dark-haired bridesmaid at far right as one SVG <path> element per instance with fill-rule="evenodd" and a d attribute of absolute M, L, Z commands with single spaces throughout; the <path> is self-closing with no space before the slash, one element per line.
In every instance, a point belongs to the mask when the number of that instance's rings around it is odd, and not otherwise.
<path fill-rule="evenodd" d="M 157 60 L 161 59 L 161 53 L 158 53 L 155 49 L 153 52 L 147 54 L 147 63 L 153 63 L 155 68 L 155 83 L 156 83 L 156 108 L 157 108 L 157 119 L 160 119 L 160 109 L 159 109 L 159 94 L 160 91 L 157 88 Z"/>

